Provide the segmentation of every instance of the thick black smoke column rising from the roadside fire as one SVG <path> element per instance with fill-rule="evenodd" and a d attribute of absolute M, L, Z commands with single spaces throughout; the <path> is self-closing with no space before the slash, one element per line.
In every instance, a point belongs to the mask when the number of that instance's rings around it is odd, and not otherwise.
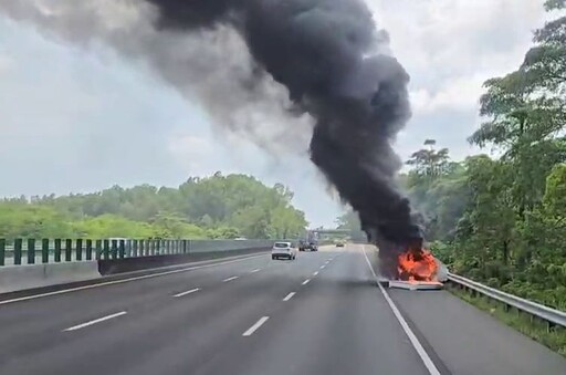
<path fill-rule="evenodd" d="M 163 29 L 234 27 L 259 66 L 315 118 L 311 158 L 359 213 L 370 240 L 386 252 L 418 243 L 391 148 L 410 117 L 409 76 L 381 53 L 387 38 L 363 1 L 149 1 Z"/>

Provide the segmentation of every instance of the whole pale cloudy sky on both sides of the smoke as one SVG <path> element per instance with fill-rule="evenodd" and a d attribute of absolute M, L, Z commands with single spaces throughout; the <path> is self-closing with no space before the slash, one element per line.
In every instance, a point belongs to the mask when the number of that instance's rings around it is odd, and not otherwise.
<path fill-rule="evenodd" d="M 479 153 L 467 137 L 481 122 L 482 83 L 521 64 L 548 18 L 543 1 L 366 2 L 411 76 L 413 116 L 396 150 L 406 159 L 433 138 L 454 159 Z M 178 186 L 220 170 L 287 185 L 312 227 L 334 225 L 344 208 L 306 149 L 285 138 L 290 152 L 272 155 L 213 122 L 140 64 L 45 38 L 0 10 L 0 196 Z"/>

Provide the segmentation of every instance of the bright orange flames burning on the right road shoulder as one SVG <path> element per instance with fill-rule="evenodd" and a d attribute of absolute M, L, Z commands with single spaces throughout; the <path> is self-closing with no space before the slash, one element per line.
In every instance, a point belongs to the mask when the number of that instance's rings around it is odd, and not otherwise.
<path fill-rule="evenodd" d="M 397 270 L 399 280 L 437 281 L 437 261 L 426 249 L 409 249 L 399 254 Z"/>

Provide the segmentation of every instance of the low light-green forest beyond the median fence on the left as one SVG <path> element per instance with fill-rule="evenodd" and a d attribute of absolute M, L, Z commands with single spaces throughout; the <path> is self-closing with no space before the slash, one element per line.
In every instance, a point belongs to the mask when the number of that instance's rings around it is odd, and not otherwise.
<path fill-rule="evenodd" d="M 244 175 L 191 177 L 84 195 L 0 201 L 4 238 L 296 238 L 307 222 L 293 192 Z"/>

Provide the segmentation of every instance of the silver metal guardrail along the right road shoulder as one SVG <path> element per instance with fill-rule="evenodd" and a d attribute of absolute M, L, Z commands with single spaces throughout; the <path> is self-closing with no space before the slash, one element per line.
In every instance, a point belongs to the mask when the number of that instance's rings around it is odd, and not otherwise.
<path fill-rule="evenodd" d="M 483 285 L 479 282 L 460 277 L 458 274 L 448 273 L 448 281 L 459 285 L 460 288 L 470 290 L 472 293 L 480 293 L 492 300 L 499 301 L 503 303 L 505 310 L 514 308 L 520 312 L 545 321 L 548 323 L 548 329 L 552 326 L 566 327 L 566 312 L 564 311 L 551 309 L 543 304 L 502 292 L 497 289 Z"/>

